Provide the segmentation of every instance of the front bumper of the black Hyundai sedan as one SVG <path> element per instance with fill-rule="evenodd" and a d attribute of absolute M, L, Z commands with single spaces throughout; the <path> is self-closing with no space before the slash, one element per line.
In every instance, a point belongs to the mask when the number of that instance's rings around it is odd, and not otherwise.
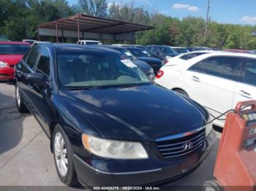
<path fill-rule="evenodd" d="M 206 137 L 203 152 L 195 152 L 180 160 L 164 160 L 160 157 L 148 160 L 98 160 L 74 154 L 78 180 L 88 187 L 94 186 L 147 186 L 170 182 L 196 168 L 214 146 L 217 136 L 214 130 Z M 155 152 L 154 150 L 152 152 Z M 115 168 L 116 171 L 110 171 Z M 129 171 L 127 171 L 129 169 Z M 123 171 L 122 171 L 123 170 Z"/>

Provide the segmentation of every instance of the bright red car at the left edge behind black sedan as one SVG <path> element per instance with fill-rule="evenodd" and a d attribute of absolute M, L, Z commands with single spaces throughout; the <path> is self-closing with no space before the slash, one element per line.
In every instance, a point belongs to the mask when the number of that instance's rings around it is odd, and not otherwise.
<path fill-rule="evenodd" d="M 0 80 L 14 79 L 15 64 L 29 51 L 27 42 L 0 42 Z"/>

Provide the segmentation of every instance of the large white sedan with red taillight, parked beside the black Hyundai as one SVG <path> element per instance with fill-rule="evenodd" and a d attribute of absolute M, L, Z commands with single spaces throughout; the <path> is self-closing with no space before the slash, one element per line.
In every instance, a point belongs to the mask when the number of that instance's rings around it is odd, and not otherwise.
<path fill-rule="evenodd" d="M 238 101 L 256 98 L 256 55 L 199 55 L 176 66 L 162 66 L 155 82 L 189 96 L 217 117 L 234 108 Z M 223 127 L 224 122 L 215 120 L 214 125 Z"/>

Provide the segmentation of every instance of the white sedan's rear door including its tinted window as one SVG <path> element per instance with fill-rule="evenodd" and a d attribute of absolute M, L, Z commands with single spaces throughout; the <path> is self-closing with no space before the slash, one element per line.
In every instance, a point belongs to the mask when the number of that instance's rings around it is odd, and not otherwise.
<path fill-rule="evenodd" d="M 218 115 L 233 106 L 236 71 L 241 58 L 213 56 L 192 66 L 185 74 L 192 85 L 192 99 Z"/>

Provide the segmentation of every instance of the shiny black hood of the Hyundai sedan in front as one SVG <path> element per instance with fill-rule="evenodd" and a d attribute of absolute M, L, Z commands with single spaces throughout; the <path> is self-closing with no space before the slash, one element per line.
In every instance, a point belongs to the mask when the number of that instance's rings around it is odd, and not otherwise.
<path fill-rule="evenodd" d="M 203 107 L 158 85 L 62 94 L 105 139 L 154 141 L 201 128 L 206 117 Z"/>

